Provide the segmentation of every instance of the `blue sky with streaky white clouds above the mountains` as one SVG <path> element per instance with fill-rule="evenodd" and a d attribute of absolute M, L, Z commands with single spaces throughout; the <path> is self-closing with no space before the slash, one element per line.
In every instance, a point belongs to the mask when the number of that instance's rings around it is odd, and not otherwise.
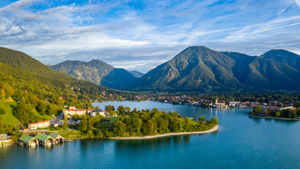
<path fill-rule="evenodd" d="M 188 46 L 300 54 L 300 0 L 1 0 L 0 46 L 45 64 L 100 59 L 146 73 Z"/>

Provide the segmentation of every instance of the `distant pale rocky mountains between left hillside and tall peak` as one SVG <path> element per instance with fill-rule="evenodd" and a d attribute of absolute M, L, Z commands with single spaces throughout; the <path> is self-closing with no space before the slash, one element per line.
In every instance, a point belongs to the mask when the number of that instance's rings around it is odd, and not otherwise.
<path fill-rule="evenodd" d="M 65 61 L 51 65 L 49 68 L 111 89 L 124 89 L 138 79 L 136 76 L 141 75 L 137 71 L 130 72 L 122 68 L 114 68 L 98 59 L 89 62 Z"/>

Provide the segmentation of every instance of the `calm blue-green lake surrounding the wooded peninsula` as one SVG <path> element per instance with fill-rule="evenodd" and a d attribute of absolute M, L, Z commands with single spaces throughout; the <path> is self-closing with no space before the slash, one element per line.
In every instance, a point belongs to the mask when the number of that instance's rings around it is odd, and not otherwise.
<path fill-rule="evenodd" d="M 219 119 L 219 131 L 148 140 L 81 139 L 45 148 L 0 145 L 0 168 L 300 168 L 300 122 L 249 118 L 249 109 L 152 101 L 111 104 Z"/>

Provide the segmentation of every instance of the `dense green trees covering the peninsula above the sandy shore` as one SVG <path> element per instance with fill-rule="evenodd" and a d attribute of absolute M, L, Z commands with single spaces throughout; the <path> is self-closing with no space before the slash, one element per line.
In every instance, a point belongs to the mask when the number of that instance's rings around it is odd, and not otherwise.
<path fill-rule="evenodd" d="M 217 118 L 205 120 L 202 116 L 199 120 L 190 120 L 188 117 L 183 118 L 179 113 L 166 113 L 157 108 L 153 108 L 152 111 L 148 109 L 137 111 L 136 108 L 130 111 L 131 108 L 124 106 L 119 106 L 117 110 L 113 106 L 107 108 L 123 114 L 115 123 L 105 123 L 112 124 L 112 127 L 98 127 L 105 122 L 102 115 L 95 117 L 83 115 L 74 117 L 74 120 L 81 120 L 77 129 L 86 137 L 134 137 L 169 132 L 207 131 L 219 124 Z"/>

